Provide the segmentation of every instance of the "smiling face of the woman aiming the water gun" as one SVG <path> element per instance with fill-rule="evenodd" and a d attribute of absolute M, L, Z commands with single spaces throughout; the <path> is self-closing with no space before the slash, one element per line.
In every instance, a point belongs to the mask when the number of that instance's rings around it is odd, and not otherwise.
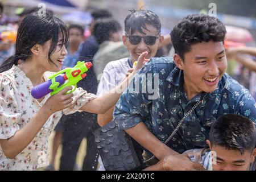
<path fill-rule="evenodd" d="M 61 46 L 61 43 L 63 42 L 63 37 L 59 36 L 59 41 L 57 43 L 57 47 L 55 51 L 52 53 L 51 60 L 53 63 L 49 63 L 48 61 L 48 53 L 49 53 L 49 48 L 51 47 L 51 40 L 48 40 L 43 46 L 39 46 L 40 53 L 39 53 L 39 59 L 42 60 L 40 61 L 41 66 L 45 69 L 45 71 L 50 71 L 50 72 L 59 72 L 62 65 L 63 65 L 63 60 L 65 58 L 65 55 L 67 55 L 67 49 L 65 48 L 65 45 Z M 55 65 L 56 64 L 56 65 Z"/>

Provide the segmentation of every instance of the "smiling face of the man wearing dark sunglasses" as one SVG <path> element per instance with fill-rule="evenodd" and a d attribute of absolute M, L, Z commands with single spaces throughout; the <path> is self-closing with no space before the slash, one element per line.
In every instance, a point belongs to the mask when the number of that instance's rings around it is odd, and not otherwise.
<path fill-rule="evenodd" d="M 128 36 L 159 36 L 158 31 L 156 30 L 155 27 L 146 24 L 146 29 L 143 29 L 144 34 L 141 34 L 141 32 L 136 31 L 133 35 L 130 35 L 130 32 L 127 32 Z M 156 52 L 158 51 L 159 46 L 162 44 L 163 42 L 163 36 L 160 36 L 158 39 L 156 39 L 155 43 L 153 45 L 147 45 L 143 39 L 141 39 L 141 42 L 139 42 L 138 44 L 134 45 L 132 44 L 130 41 L 130 39 L 126 36 L 123 35 L 122 37 L 123 39 L 123 44 L 127 47 L 130 56 L 131 56 L 131 61 L 137 61 L 139 55 L 141 55 L 143 52 L 147 51 L 148 55 L 146 57 L 146 59 L 150 59 L 151 57 L 154 57 L 156 55 Z"/>

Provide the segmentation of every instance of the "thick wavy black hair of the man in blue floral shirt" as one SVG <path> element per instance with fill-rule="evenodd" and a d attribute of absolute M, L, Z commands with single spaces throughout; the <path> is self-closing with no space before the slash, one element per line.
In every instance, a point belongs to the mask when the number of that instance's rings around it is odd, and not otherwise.
<path fill-rule="evenodd" d="M 224 24 L 209 15 L 192 14 L 177 23 L 171 32 L 171 40 L 177 53 L 184 60 L 184 54 L 191 51 L 193 44 L 201 42 L 224 42 Z"/>

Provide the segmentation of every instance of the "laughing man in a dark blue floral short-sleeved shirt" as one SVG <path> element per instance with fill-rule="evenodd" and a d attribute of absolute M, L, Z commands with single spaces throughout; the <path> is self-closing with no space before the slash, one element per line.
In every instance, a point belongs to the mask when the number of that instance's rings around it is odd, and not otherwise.
<path fill-rule="evenodd" d="M 225 73 L 225 35 L 217 18 L 188 15 L 171 32 L 174 58 L 151 59 L 130 84 L 139 80 L 143 86 L 147 77 L 142 75 L 158 76 L 158 98 L 151 100 L 152 94 L 134 93 L 131 87 L 122 94 L 114 121 L 144 148 L 147 166 L 172 155 L 169 169 L 204 169 L 181 154 L 207 147 L 205 140 L 216 118 L 236 113 L 256 121 L 249 90 Z"/>

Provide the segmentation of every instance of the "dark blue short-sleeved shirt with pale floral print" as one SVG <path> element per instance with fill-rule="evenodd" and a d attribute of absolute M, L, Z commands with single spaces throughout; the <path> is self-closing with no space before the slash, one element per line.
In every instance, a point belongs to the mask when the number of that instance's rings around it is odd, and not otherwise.
<path fill-rule="evenodd" d="M 154 78 L 157 76 L 158 85 L 155 85 Z M 141 91 L 139 93 L 134 89 L 136 87 L 134 85 L 138 85 L 138 82 Z M 145 86 L 145 82 L 147 86 L 150 85 L 149 88 L 154 88 L 156 93 L 150 92 L 152 90 Z M 184 115 L 198 101 L 203 100 L 167 143 L 181 154 L 193 148 L 207 147 L 205 140 L 209 138 L 210 126 L 221 115 L 241 114 L 256 122 L 254 98 L 249 90 L 228 74 L 225 73 L 221 78 L 214 92 L 200 93 L 190 101 L 184 91 L 183 82 L 183 71 L 176 67 L 172 57 L 151 59 L 134 77 L 115 106 L 115 123 L 120 129 L 126 130 L 139 122 L 144 122 L 151 133 L 164 142 Z M 145 92 L 142 92 L 143 88 Z M 150 98 L 152 94 L 156 94 L 156 99 Z"/>

